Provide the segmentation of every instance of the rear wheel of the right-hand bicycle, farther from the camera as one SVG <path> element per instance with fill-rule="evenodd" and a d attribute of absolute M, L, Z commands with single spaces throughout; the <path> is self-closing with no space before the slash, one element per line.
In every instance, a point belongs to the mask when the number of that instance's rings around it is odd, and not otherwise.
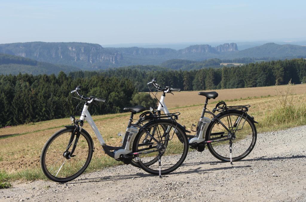
<path fill-rule="evenodd" d="M 236 139 L 233 139 L 232 161 L 239 161 L 248 156 L 253 150 L 257 132 L 253 121 L 241 111 L 224 113 L 218 117 L 222 123 L 235 132 Z M 213 121 L 207 128 L 206 140 L 226 138 L 228 132 L 217 121 Z M 211 154 L 221 161 L 230 161 L 230 141 L 207 143 Z"/>

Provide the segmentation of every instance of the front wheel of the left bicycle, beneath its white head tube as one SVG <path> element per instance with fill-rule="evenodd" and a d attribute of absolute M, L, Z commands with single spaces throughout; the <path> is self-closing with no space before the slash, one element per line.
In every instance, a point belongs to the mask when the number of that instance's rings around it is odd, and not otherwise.
<path fill-rule="evenodd" d="M 43 173 L 54 182 L 68 182 L 77 178 L 91 161 L 93 143 L 91 137 L 83 129 L 73 155 L 70 158 L 67 155 L 64 157 L 67 148 L 69 149 L 66 152 L 71 152 L 75 144 L 76 135 L 72 135 L 73 131 L 73 128 L 64 128 L 54 133 L 43 147 L 40 157 L 41 167 Z"/>

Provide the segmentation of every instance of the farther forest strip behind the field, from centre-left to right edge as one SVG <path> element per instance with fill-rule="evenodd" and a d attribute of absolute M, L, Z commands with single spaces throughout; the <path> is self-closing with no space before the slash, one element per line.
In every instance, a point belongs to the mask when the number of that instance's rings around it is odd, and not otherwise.
<path fill-rule="evenodd" d="M 150 71 L 148 71 L 150 69 Z M 129 78 L 139 92 L 147 92 L 147 82 L 157 78 L 161 86 L 181 88 L 185 91 L 224 88 L 248 88 L 306 82 L 306 60 L 278 60 L 249 63 L 243 66 L 203 68 L 200 70 L 162 70 L 154 66 L 131 66 L 102 72 L 77 71 L 69 73 L 72 78 L 90 78 L 94 75 Z"/>

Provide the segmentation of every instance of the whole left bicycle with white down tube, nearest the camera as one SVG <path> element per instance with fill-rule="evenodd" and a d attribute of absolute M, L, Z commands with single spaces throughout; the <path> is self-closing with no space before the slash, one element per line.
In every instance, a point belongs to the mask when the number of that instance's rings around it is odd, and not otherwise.
<path fill-rule="evenodd" d="M 155 119 L 144 126 L 132 124 L 133 116 L 145 110 L 143 106 L 125 107 L 131 112 L 122 146 L 106 145 L 88 107 L 94 102 L 105 102 L 95 96 L 85 97 L 76 92 L 84 101 L 79 120 L 71 116 L 71 126 L 65 126 L 54 133 L 43 147 L 40 163 L 44 174 L 54 182 L 68 182 L 80 176 L 88 167 L 94 152 L 94 143 L 83 128 L 87 121 L 97 136 L 104 152 L 117 161 L 130 164 L 132 160 L 144 171 L 163 175 L 177 169 L 188 153 L 188 140 L 185 128 L 176 122 L 177 114 L 168 114 L 169 119 Z M 78 99 L 78 98 L 76 98 Z M 155 161 L 157 157 L 158 161 Z"/>

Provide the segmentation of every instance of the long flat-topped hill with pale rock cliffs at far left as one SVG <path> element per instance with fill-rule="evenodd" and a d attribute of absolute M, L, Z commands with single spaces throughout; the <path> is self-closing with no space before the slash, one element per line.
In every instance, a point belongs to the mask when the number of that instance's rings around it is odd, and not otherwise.
<path fill-rule="evenodd" d="M 53 63 L 118 63 L 120 52 L 109 52 L 99 44 L 28 42 L 0 45 L 0 52 Z"/>

